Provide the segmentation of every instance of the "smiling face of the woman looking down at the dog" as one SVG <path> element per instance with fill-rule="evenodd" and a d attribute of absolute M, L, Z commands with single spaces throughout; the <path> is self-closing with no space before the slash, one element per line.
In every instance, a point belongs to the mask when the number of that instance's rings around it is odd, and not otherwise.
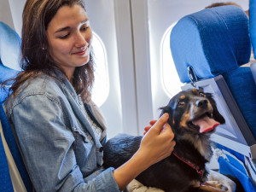
<path fill-rule="evenodd" d="M 84 9 L 75 4 L 62 6 L 47 29 L 49 55 L 70 80 L 75 67 L 90 60 L 92 32 Z"/>

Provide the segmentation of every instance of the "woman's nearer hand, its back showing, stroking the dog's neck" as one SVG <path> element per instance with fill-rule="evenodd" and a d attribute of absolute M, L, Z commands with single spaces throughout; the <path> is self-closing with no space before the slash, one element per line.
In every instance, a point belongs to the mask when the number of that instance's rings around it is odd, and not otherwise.
<path fill-rule="evenodd" d="M 169 114 L 164 113 L 143 137 L 137 154 L 145 158 L 145 164 L 152 166 L 154 163 L 165 159 L 172 154 L 175 146 L 174 134 L 171 126 L 167 123 Z"/>

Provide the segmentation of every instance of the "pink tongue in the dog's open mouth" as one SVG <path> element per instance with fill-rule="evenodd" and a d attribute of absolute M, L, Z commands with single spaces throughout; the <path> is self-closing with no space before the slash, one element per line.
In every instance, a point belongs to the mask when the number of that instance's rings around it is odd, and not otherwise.
<path fill-rule="evenodd" d="M 218 121 L 209 118 L 207 115 L 202 117 L 201 119 L 195 119 L 192 121 L 194 125 L 200 126 L 200 133 L 212 131 L 216 126 L 218 126 L 220 123 Z"/>

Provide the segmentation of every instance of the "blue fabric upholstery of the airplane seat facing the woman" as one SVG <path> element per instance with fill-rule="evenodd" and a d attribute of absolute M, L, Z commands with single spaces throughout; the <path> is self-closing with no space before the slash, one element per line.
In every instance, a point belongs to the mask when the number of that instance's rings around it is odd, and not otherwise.
<path fill-rule="evenodd" d="M 256 10 L 253 14 L 256 16 Z M 256 138 L 256 85 L 250 67 L 241 67 L 249 61 L 252 49 L 244 11 L 237 6 L 222 6 L 184 16 L 173 27 L 170 44 L 181 82 L 190 82 L 187 67 L 193 67 L 199 79 L 223 75 Z M 233 165 L 236 160 L 231 164 L 219 158 L 218 162 L 221 173 L 237 177 L 247 192 L 256 191 L 252 179 Z"/>

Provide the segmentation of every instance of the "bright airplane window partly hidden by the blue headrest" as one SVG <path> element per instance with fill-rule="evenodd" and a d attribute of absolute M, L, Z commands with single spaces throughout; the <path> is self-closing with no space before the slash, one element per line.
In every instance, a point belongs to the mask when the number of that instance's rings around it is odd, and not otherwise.
<path fill-rule="evenodd" d="M 172 24 L 172 26 L 166 30 L 160 44 L 162 84 L 166 94 L 170 97 L 176 95 L 183 85 L 178 78 L 170 49 L 170 34 L 176 23 Z"/>

